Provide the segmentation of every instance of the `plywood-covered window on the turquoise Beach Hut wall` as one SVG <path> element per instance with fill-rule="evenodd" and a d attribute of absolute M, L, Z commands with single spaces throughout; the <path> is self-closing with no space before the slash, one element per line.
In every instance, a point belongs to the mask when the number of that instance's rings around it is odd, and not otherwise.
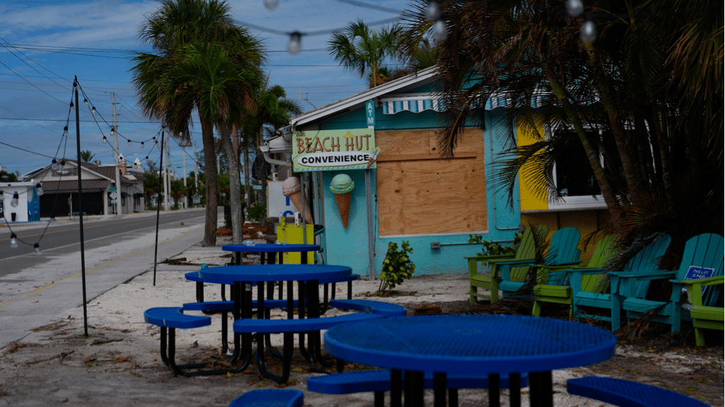
<path fill-rule="evenodd" d="M 455 159 L 439 158 L 435 130 L 376 131 L 381 236 L 488 230 L 484 140 L 466 129 Z"/>

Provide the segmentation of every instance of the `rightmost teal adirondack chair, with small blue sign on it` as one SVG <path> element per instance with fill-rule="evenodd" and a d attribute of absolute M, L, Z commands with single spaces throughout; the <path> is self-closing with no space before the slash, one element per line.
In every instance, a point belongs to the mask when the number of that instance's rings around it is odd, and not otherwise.
<path fill-rule="evenodd" d="M 624 311 L 627 321 L 637 319 L 647 312 L 659 309 L 652 321 L 669 324 L 671 332 L 679 332 L 682 319 L 690 320 L 688 307 L 681 303 L 681 280 L 697 277 L 718 277 L 723 275 L 725 261 L 725 239 L 721 235 L 703 233 L 687 240 L 679 269 L 675 271 L 651 270 L 649 272 L 613 272 L 612 278 L 612 311 Z M 708 275 L 709 274 L 709 275 Z M 652 280 L 670 279 L 672 294 L 669 301 L 647 300 L 646 286 Z M 713 288 L 717 289 L 717 288 Z M 711 289 L 710 291 L 714 291 Z M 712 293 L 709 293 L 712 294 Z M 711 305 L 716 295 L 706 295 L 705 306 Z M 612 330 L 619 329 L 619 320 L 612 321 Z"/>

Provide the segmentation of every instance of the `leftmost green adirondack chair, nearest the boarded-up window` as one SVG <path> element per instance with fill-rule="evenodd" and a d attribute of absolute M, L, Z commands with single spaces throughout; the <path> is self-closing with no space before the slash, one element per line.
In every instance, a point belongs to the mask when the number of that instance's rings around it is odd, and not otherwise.
<path fill-rule="evenodd" d="M 538 225 L 537 234 L 541 236 L 547 235 L 549 227 L 546 225 Z M 513 256 L 471 256 L 465 257 L 468 260 L 468 273 L 471 280 L 471 303 L 478 303 L 478 298 L 490 298 L 492 303 L 498 301 L 498 291 L 500 277 L 494 273 L 494 266 L 491 266 L 491 274 L 479 274 L 479 264 L 489 265 L 494 260 L 534 260 L 536 259 L 536 246 L 534 245 L 534 232 L 531 228 L 523 232 L 521 244 L 518 246 L 516 254 Z M 528 269 L 528 267 L 522 267 Z M 486 288 L 491 291 L 491 295 L 479 293 L 479 288 Z"/>

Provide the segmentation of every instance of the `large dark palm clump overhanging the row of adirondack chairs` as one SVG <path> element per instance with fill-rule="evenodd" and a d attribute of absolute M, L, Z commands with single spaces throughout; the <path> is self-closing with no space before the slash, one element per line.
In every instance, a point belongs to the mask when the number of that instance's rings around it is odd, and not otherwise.
<path fill-rule="evenodd" d="M 427 3 L 405 13 L 410 41 L 431 27 Z M 578 143 L 626 238 L 669 232 L 674 252 L 697 233 L 722 233 L 723 16 L 713 12 L 721 6 L 675 3 L 585 2 L 598 34 L 584 43 L 584 17 L 569 17 L 564 1 L 441 2 L 443 154 L 454 154 L 466 118 L 487 118 L 481 100 L 505 96 L 515 107 L 502 125 L 537 138 L 511 140 L 499 172 L 510 193 L 521 174 L 555 196 L 552 166 Z"/>

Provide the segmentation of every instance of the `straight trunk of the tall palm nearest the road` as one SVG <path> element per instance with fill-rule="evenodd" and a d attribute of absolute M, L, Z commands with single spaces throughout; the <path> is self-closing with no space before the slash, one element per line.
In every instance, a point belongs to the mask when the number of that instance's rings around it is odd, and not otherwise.
<path fill-rule="evenodd" d="M 217 246 L 217 160 L 214 148 L 214 127 L 208 120 L 199 117 L 202 124 L 202 142 L 204 143 L 204 173 L 207 179 L 207 210 L 204 220 L 204 241 L 202 246 Z"/>

